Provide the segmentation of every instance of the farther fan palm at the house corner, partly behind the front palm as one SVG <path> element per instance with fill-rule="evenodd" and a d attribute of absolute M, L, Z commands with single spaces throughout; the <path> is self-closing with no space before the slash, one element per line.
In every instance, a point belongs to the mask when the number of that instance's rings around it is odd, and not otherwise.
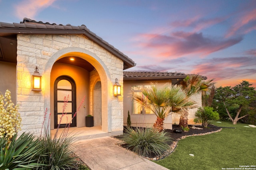
<path fill-rule="evenodd" d="M 178 86 L 182 88 L 186 96 L 190 98 L 192 95 L 201 94 L 204 95 L 209 87 L 214 84 L 211 80 L 203 80 L 199 74 L 191 74 L 178 83 Z M 180 116 L 180 127 L 188 127 L 188 109 L 184 109 Z"/>

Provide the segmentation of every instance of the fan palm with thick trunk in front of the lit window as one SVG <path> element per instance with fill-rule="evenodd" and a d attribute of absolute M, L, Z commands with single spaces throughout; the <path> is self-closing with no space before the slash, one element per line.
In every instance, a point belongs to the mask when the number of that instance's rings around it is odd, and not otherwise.
<path fill-rule="evenodd" d="M 142 95 L 132 91 L 132 98 L 145 109 L 151 109 L 156 115 L 153 127 L 158 131 L 164 129 L 164 119 L 172 112 L 180 112 L 183 109 L 194 108 L 195 102 L 189 100 L 180 86 L 165 84 L 151 84 L 151 89 L 142 88 Z"/>

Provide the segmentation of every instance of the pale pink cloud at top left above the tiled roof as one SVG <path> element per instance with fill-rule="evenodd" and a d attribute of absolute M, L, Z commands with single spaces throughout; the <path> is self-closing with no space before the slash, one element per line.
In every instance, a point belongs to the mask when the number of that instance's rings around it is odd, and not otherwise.
<path fill-rule="evenodd" d="M 18 18 L 30 18 L 34 19 L 35 16 L 42 9 L 51 6 L 56 0 L 23 0 L 22 2 L 16 4 L 16 16 Z"/>

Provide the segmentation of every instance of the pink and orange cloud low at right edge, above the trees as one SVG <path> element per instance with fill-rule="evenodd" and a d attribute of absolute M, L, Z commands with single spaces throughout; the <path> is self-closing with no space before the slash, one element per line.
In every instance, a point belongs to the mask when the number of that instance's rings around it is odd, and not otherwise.
<path fill-rule="evenodd" d="M 215 58 L 193 65 L 194 69 L 190 73 L 199 73 L 208 79 L 214 78 L 218 86 L 230 86 L 228 83 L 236 85 L 242 80 L 250 80 L 249 82 L 254 84 L 255 65 L 255 57 Z M 256 84 L 254 86 L 256 87 Z"/>

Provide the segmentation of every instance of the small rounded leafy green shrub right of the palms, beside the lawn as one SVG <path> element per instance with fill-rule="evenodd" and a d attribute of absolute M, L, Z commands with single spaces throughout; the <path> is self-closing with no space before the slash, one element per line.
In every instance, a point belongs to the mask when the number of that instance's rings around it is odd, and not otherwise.
<path fill-rule="evenodd" d="M 211 120 L 219 120 L 219 113 L 217 111 L 213 111 L 212 107 L 200 107 L 196 111 L 195 116 L 197 118 L 194 119 L 195 123 L 199 123 L 202 121 L 204 127 L 207 127 Z"/>

